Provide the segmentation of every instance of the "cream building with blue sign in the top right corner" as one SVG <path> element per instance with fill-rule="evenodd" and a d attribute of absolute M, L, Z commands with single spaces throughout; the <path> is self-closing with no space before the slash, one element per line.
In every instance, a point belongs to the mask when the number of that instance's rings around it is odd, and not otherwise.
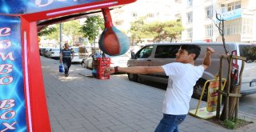
<path fill-rule="evenodd" d="M 256 1 L 218 0 L 219 13 L 226 19 L 227 42 L 256 42 Z M 221 38 L 218 37 L 217 41 Z"/>

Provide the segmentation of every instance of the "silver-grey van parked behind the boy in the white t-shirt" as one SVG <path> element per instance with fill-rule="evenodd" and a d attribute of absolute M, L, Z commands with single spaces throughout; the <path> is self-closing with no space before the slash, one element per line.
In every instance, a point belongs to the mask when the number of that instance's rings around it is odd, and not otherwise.
<path fill-rule="evenodd" d="M 158 43 L 150 44 L 142 47 L 136 54 L 132 54 L 132 58 L 127 62 L 127 66 L 162 66 L 175 61 L 175 54 L 182 44 L 196 44 L 201 46 L 201 54 L 197 58 L 195 65 L 201 65 L 208 46 L 213 47 L 216 53 L 212 55 L 211 66 L 204 71 L 202 78 L 198 80 L 194 86 L 194 98 L 199 98 L 202 91 L 202 86 L 206 80 L 213 79 L 214 75 L 218 74 L 219 56 L 225 54 L 222 43 Z M 241 94 L 256 93 L 256 45 L 245 43 L 226 43 L 226 50 L 229 54 L 236 54 L 247 58 L 242 74 Z M 242 61 L 234 61 L 234 65 L 241 69 Z M 227 77 L 228 62 L 223 64 L 223 78 Z M 240 71 L 240 70 L 238 70 Z M 138 80 L 150 80 L 154 82 L 167 83 L 168 77 L 165 74 L 128 74 L 130 81 L 137 82 Z M 207 91 L 203 98 L 206 99 Z"/>

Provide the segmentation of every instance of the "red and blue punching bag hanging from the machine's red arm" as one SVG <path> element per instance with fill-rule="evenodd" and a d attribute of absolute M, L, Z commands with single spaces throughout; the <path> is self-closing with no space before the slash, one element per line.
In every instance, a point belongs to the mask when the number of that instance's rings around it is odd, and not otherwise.
<path fill-rule="evenodd" d="M 115 56 L 125 54 L 130 48 L 130 40 L 120 30 L 113 26 L 110 10 L 102 9 L 105 21 L 105 29 L 103 30 L 98 42 L 102 52 Z"/>

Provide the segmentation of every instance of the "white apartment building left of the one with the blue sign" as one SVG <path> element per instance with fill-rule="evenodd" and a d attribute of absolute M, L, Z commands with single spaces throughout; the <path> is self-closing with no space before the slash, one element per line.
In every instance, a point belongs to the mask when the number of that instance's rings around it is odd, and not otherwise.
<path fill-rule="evenodd" d="M 214 42 L 218 29 L 214 26 L 217 0 L 182 0 L 182 42 Z M 216 34 L 215 34 L 216 32 Z"/>

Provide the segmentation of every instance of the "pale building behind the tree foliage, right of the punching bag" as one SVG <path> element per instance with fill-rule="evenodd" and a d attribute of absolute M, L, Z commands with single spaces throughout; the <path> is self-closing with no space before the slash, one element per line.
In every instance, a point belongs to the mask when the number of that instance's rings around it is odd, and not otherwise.
<path fill-rule="evenodd" d="M 146 22 L 171 21 L 178 19 L 181 0 L 137 0 L 126 6 L 111 10 L 114 26 L 129 36 L 130 22 L 146 17 Z M 179 17 L 180 18 L 180 17 Z"/>

